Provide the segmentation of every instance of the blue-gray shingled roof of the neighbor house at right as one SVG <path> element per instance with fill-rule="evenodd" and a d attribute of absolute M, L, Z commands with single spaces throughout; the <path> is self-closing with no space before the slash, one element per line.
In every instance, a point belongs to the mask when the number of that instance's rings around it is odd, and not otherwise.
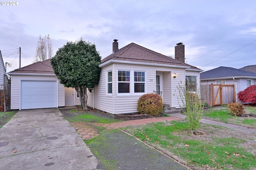
<path fill-rule="evenodd" d="M 256 73 L 235 69 L 232 67 L 218 67 L 200 73 L 201 79 L 221 78 L 221 77 L 256 77 Z"/>

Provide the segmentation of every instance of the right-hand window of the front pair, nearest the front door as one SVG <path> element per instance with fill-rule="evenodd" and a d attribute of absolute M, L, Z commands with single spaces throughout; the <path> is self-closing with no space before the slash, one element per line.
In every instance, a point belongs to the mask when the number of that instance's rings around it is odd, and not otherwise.
<path fill-rule="evenodd" d="M 134 93 L 145 92 L 145 72 L 134 71 Z"/>

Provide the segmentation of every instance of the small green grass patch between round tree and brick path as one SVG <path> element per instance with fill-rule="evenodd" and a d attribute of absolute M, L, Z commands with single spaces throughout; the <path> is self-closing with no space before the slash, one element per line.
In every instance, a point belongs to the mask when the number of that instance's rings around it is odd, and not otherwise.
<path fill-rule="evenodd" d="M 86 123 L 115 123 L 119 122 L 118 119 L 100 118 L 89 113 L 77 115 L 74 117 L 66 117 L 69 122 L 86 122 Z"/>

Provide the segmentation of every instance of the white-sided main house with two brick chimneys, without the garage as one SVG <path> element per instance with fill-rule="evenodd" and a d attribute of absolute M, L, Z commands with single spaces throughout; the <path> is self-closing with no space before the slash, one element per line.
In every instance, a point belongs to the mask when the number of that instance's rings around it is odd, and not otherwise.
<path fill-rule="evenodd" d="M 158 93 L 164 104 L 179 108 L 179 83 L 199 84 L 202 70 L 184 62 L 182 43 L 172 59 L 135 43 L 118 49 L 117 41 L 113 53 L 102 59 L 100 82 L 88 94 L 88 106 L 112 114 L 136 113 L 141 95 Z"/>

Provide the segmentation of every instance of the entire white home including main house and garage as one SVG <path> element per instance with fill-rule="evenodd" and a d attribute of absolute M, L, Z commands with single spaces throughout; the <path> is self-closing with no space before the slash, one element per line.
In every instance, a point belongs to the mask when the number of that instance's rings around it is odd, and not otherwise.
<path fill-rule="evenodd" d="M 180 81 L 199 84 L 202 70 L 184 62 L 182 43 L 175 47 L 172 59 L 135 43 L 118 49 L 117 41 L 113 42 L 113 53 L 102 59 L 99 84 L 88 92 L 89 107 L 112 114 L 136 113 L 141 95 L 158 93 L 164 104 L 179 108 Z M 8 74 L 12 78 L 11 109 L 80 105 L 76 91 L 59 83 L 50 59 Z"/>

